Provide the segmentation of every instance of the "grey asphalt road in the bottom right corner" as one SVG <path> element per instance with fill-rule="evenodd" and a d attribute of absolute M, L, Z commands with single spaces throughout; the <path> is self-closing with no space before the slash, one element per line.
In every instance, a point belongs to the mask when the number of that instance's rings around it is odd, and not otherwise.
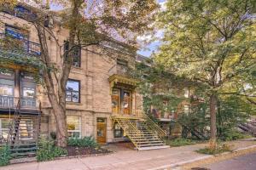
<path fill-rule="evenodd" d="M 209 164 L 211 170 L 256 170 L 256 153 Z"/>

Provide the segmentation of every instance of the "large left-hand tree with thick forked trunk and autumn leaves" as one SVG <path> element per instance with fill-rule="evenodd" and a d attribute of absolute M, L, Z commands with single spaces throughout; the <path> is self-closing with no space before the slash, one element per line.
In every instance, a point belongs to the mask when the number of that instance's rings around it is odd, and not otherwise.
<path fill-rule="evenodd" d="M 136 37 L 148 30 L 158 5 L 154 0 L 59 0 L 31 1 L 39 7 L 37 18 L 26 19 L 36 27 L 41 47 L 40 61 L 44 86 L 56 120 L 57 145 L 67 145 L 66 84 L 73 65 L 73 54 L 77 48 L 98 45 L 117 38 L 130 45 L 134 52 Z M 13 3 L 13 2 L 12 2 Z M 58 3 L 63 8 L 59 14 L 51 13 L 49 5 Z M 57 16 L 56 16 L 57 15 Z M 58 19 L 56 19 L 58 17 Z M 60 20 L 61 18 L 61 20 Z M 54 26 L 49 26 L 53 20 Z M 62 53 L 62 42 L 55 35 L 55 23 L 68 30 L 68 47 Z M 58 44 L 60 63 L 52 63 L 49 53 L 49 37 Z M 62 50 L 61 50 L 62 49 Z M 55 86 L 55 82 L 57 85 Z"/>

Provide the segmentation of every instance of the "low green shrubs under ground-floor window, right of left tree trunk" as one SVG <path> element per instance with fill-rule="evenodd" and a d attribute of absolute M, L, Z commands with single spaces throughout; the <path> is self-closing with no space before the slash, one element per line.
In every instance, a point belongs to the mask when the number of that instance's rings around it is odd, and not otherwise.
<path fill-rule="evenodd" d="M 82 139 L 78 139 L 78 138 L 67 139 L 67 145 L 79 146 L 79 147 L 92 147 L 92 148 L 95 148 L 96 146 L 98 146 L 98 144 L 96 143 L 96 140 L 92 136 L 84 137 Z"/>

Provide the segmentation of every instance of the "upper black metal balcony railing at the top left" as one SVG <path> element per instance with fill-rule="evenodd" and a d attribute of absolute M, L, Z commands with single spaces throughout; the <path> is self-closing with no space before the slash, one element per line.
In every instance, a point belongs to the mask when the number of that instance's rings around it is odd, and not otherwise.
<path fill-rule="evenodd" d="M 41 54 L 40 44 L 26 39 L 12 37 L 5 33 L 0 33 L 0 48 L 7 48 L 12 51 L 21 51 L 35 56 Z"/>

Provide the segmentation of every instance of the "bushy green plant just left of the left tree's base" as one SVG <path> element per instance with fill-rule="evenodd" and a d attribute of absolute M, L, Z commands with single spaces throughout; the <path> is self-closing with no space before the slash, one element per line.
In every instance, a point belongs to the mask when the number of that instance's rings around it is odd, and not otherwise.
<path fill-rule="evenodd" d="M 37 150 L 37 161 L 50 161 L 55 157 L 67 155 L 67 150 L 57 147 L 54 141 L 42 139 Z"/>

